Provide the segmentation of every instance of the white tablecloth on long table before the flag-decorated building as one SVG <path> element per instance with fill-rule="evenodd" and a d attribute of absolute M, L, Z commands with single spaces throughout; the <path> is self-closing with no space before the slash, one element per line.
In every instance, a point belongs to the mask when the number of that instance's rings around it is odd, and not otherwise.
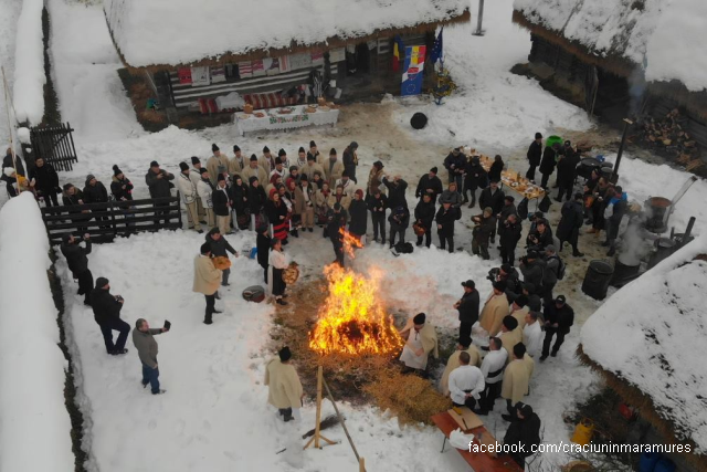
<path fill-rule="evenodd" d="M 287 107 L 283 107 L 287 108 Z M 239 135 L 243 136 L 244 133 L 255 132 L 261 129 L 291 129 L 302 128 L 305 126 L 321 126 L 321 125 L 335 125 L 339 119 L 338 109 L 323 111 L 317 108 L 315 113 L 305 113 L 306 105 L 291 106 L 294 108 L 289 114 L 277 113 L 281 108 L 261 109 L 255 113 L 264 113 L 262 118 L 256 117 L 254 114 L 247 118 L 242 112 L 233 115 L 235 128 Z"/>

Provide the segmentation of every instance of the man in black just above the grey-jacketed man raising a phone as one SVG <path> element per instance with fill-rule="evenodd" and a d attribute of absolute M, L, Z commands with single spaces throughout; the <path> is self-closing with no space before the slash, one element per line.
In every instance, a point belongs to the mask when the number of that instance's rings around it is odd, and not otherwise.
<path fill-rule="evenodd" d="M 101 326 L 106 352 L 116 356 L 128 352 L 125 348 L 125 343 L 128 339 L 128 333 L 130 333 L 130 325 L 120 319 L 120 310 L 123 310 L 125 301 L 120 295 L 110 295 L 109 291 L 110 285 L 107 279 L 96 279 L 96 287 L 91 292 L 91 306 L 94 319 Z M 115 344 L 113 344 L 114 331 L 119 333 Z"/>

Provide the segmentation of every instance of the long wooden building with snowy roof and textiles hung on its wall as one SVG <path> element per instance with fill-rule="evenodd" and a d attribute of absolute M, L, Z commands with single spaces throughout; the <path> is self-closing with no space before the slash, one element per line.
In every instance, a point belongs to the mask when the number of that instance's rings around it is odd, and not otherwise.
<path fill-rule="evenodd" d="M 400 93 L 394 38 L 431 46 L 437 27 L 471 19 L 464 0 L 104 4 L 126 65 L 120 76 L 144 124 L 151 118 L 189 125 L 199 114 L 218 122 L 219 104 L 233 92 L 255 108 L 291 104 L 304 84 L 312 85 L 313 71 L 329 87 L 328 96 Z M 146 111 L 154 99 L 161 112 Z"/>

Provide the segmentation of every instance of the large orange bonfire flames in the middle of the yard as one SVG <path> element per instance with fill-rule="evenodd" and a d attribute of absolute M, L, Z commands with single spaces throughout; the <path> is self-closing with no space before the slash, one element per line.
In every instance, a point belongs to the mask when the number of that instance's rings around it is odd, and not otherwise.
<path fill-rule="evenodd" d="M 402 338 L 378 298 L 380 271 L 370 277 L 330 264 L 324 268 L 329 296 L 309 333 L 309 347 L 319 354 L 386 354 L 403 346 Z"/>

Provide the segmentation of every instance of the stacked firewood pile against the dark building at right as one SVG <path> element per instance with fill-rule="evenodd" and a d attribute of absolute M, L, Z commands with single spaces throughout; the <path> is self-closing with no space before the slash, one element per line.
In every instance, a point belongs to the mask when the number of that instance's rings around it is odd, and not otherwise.
<path fill-rule="evenodd" d="M 662 119 L 644 116 L 639 119 L 639 137 L 650 147 L 661 149 L 684 164 L 687 170 L 703 165 L 699 146 L 687 133 L 687 117 L 675 108 Z"/>

